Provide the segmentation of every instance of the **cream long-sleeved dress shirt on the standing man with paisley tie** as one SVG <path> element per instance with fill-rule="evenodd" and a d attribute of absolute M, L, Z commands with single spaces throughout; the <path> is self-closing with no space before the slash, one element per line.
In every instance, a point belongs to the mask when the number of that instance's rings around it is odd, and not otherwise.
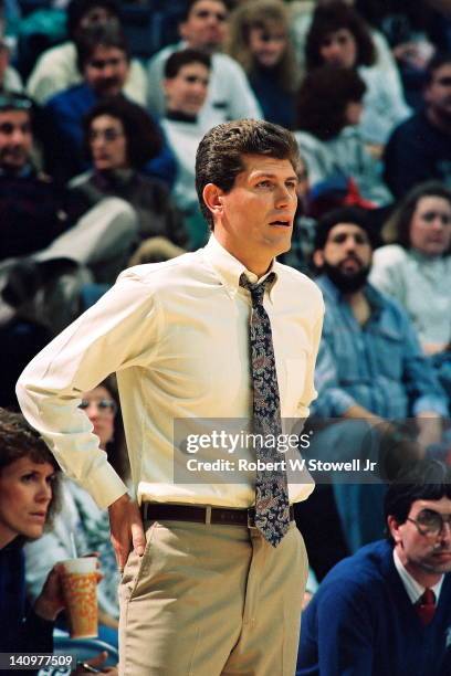
<path fill-rule="evenodd" d="M 281 412 L 283 419 L 303 419 L 316 397 L 324 304 L 318 287 L 302 273 L 277 262 L 271 270 L 276 281 L 265 292 L 264 307 L 272 325 Z M 175 443 L 175 420 L 185 419 L 197 430 L 202 429 L 199 419 L 249 421 L 252 415 L 251 297 L 239 286 L 243 272 L 256 282 L 214 236 L 195 253 L 127 270 L 23 371 L 17 388 L 23 414 L 99 507 L 120 497 L 126 486 L 77 405 L 82 392 L 113 371 L 138 501 L 237 508 L 254 503 L 254 472 L 239 483 L 227 483 L 219 474 L 214 482 L 211 475 L 206 480 L 201 473 L 175 480 L 175 467 L 187 457 Z M 210 451 L 200 450 L 196 457 L 211 460 Z M 252 450 L 249 457 L 255 460 Z M 290 500 L 305 499 L 312 489 L 310 477 L 296 478 L 289 485 Z"/>

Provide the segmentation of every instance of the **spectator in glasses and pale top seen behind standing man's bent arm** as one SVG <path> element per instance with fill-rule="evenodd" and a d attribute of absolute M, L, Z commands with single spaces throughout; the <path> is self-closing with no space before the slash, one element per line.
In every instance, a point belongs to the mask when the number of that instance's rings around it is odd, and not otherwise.
<path fill-rule="evenodd" d="M 94 434 L 98 436 L 99 447 L 106 451 L 116 472 L 130 485 L 122 419 L 117 418 L 117 401 L 113 381 L 106 380 L 94 390 L 81 394 L 80 408 L 86 411 Z M 116 420 L 119 422 L 116 423 Z M 119 573 L 109 540 L 108 513 L 99 509 L 90 494 L 69 478 L 63 479 L 62 498 L 63 507 L 54 520 L 52 531 L 25 545 L 28 593 L 35 599 L 54 563 L 72 557 L 71 532 L 74 534 L 81 554 L 98 552 L 104 573 L 97 589 L 99 637 L 117 646 Z"/>

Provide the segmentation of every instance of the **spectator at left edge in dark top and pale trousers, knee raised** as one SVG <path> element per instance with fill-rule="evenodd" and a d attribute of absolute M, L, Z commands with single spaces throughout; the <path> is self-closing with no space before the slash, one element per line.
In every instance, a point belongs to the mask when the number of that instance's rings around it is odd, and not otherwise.
<path fill-rule="evenodd" d="M 65 196 L 32 162 L 33 108 L 0 95 L 0 401 L 51 334 L 80 313 L 86 282 L 113 283 L 136 241 L 136 214 L 107 198 L 72 225 Z"/>

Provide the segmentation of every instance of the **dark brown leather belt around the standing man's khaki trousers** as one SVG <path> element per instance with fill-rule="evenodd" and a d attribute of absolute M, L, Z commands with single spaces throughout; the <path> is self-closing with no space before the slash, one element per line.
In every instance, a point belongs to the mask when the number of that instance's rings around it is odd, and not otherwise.
<path fill-rule="evenodd" d="M 231 509 L 228 507 L 198 507 L 196 505 L 170 505 L 143 503 L 145 521 L 195 521 L 196 524 L 222 524 L 223 526 L 255 527 L 255 508 Z M 290 520 L 294 520 L 294 510 L 290 505 Z"/>

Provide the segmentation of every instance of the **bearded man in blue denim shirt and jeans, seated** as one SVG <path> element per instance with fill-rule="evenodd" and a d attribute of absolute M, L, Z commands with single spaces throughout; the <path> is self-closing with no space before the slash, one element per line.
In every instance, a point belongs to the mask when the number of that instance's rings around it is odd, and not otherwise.
<path fill-rule="evenodd" d="M 367 283 L 376 245 L 368 213 L 342 208 L 319 221 L 313 255 L 322 272 L 317 284 L 326 304 L 313 413 L 334 424 L 314 435 L 310 452 L 323 461 L 360 461 L 361 472 L 346 473 L 343 467 L 333 476 L 335 503 L 352 551 L 384 532 L 380 478 L 396 451 L 388 444 L 403 443 L 402 453 L 421 453 L 423 446 L 440 441 L 441 416 L 447 415 L 445 394 L 422 356 L 409 317 Z M 418 429 L 419 443 L 411 446 L 399 432 L 408 416 Z M 384 456 L 390 448 L 390 456 Z M 364 471 L 367 461 L 376 462 L 376 474 Z M 318 484 L 323 477 L 316 474 Z M 331 515 L 315 515 L 315 530 L 323 532 L 321 518 L 329 528 Z"/>

